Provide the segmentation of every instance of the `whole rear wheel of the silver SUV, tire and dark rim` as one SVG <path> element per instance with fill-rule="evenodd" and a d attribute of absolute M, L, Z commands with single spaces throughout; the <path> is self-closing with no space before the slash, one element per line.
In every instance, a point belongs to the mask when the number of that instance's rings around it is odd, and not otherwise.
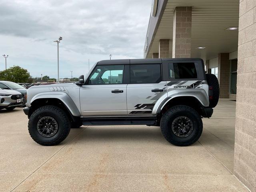
<path fill-rule="evenodd" d="M 171 144 L 189 146 L 200 138 L 203 123 L 196 110 L 177 105 L 163 114 L 160 127 L 164 138 Z"/>

